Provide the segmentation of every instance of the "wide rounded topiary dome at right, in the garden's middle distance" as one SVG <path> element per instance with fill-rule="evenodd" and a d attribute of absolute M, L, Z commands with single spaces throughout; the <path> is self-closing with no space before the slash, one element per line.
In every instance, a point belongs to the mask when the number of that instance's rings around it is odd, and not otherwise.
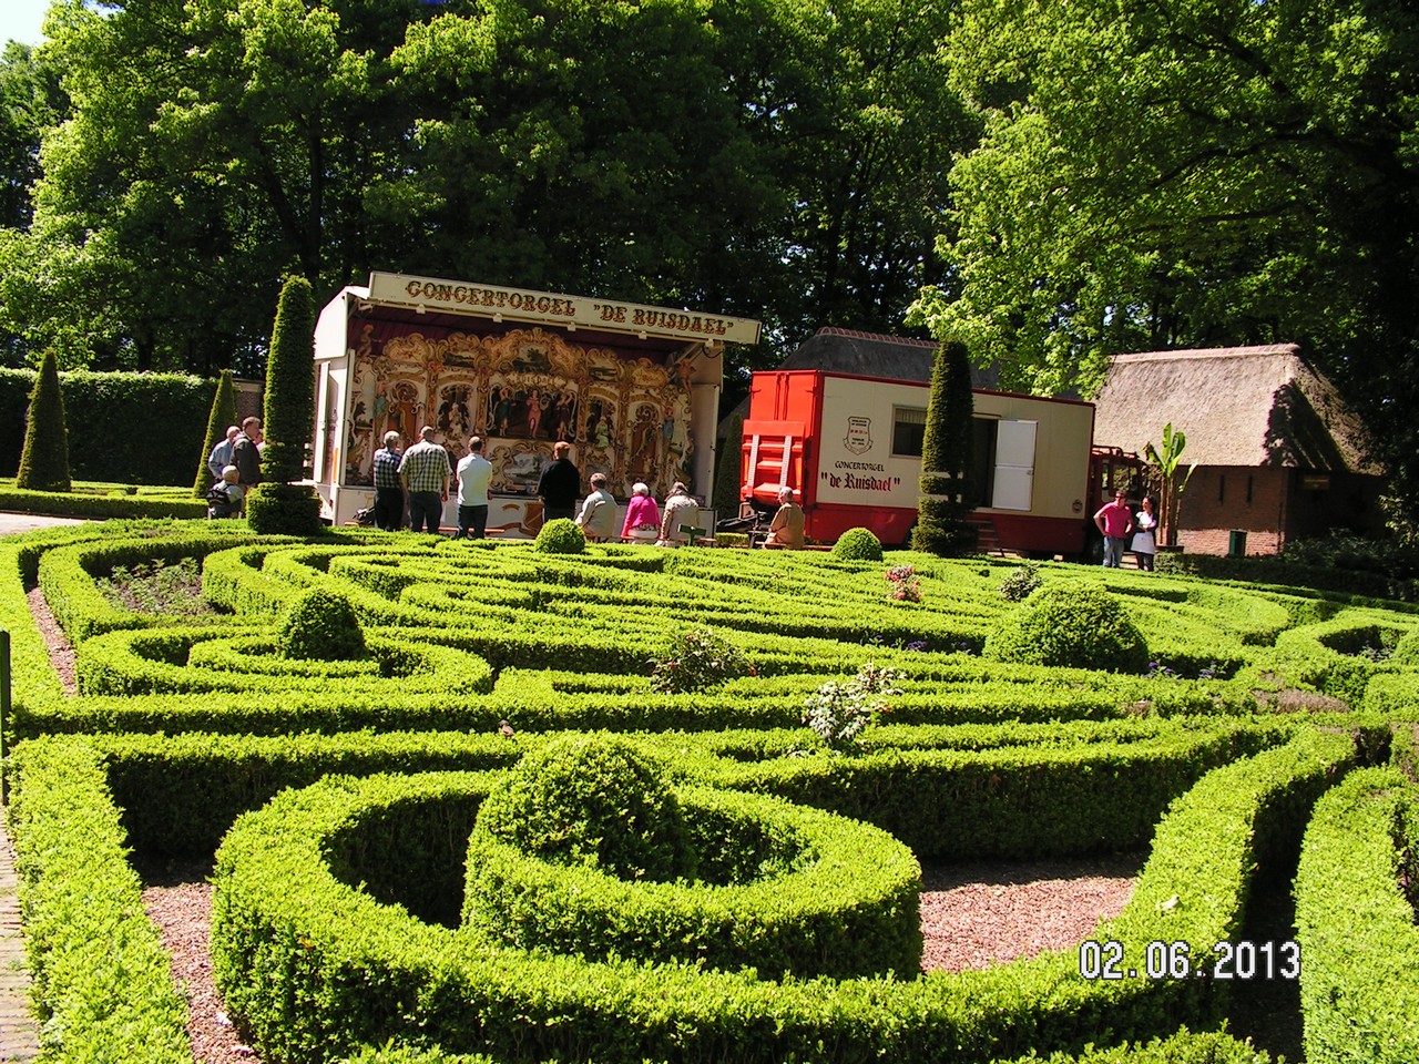
<path fill-rule="evenodd" d="M 981 657 L 1020 665 L 1144 672 L 1148 644 L 1122 604 L 1100 587 L 1043 587 L 1007 613 Z"/>

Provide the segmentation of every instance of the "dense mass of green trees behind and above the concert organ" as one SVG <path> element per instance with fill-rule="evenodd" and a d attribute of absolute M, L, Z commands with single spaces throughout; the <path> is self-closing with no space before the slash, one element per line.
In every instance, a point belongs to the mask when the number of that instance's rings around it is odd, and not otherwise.
<path fill-rule="evenodd" d="M 35 207 L 0 234 L 0 329 L 65 366 L 257 376 L 284 272 L 324 301 L 382 268 L 746 314 L 780 343 L 893 331 L 941 277 L 946 174 L 973 139 L 948 17 L 922 0 L 70 6 L 40 71 L 6 60 L 65 106 L 17 131 L 31 153 L 11 180 Z"/>

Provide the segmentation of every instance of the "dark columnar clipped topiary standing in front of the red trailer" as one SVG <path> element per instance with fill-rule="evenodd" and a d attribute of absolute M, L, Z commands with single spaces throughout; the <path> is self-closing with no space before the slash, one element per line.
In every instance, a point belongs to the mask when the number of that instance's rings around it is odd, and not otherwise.
<path fill-rule="evenodd" d="M 927 431 L 921 441 L 921 494 L 911 546 L 942 558 L 975 549 L 975 526 L 966 515 L 976 501 L 971 487 L 975 397 L 966 345 L 951 339 L 931 363 Z"/>

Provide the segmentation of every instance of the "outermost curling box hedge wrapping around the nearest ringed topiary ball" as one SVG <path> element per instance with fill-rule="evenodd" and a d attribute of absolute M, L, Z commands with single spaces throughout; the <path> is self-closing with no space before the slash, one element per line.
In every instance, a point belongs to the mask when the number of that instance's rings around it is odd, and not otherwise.
<path fill-rule="evenodd" d="M 1159 824 L 1132 899 L 1097 938 L 1120 941 L 1139 970 L 1152 941 L 1186 942 L 1206 968 L 1240 928 L 1257 860 L 1286 848 L 1288 824 L 1352 756 L 1345 736 L 1311 733 L 1209 775 Z M 498 951 L 475 928 L 420 922 L 325 867 L 324 840 L 342 826 L 410 794 L 437 806 L 481 786 L 448 775 L 331 780 L 288 792 L 228 834 L 216 872 L 216 970 L 270 1060 L 325 1061 L 417 1031 L 446 1050 L 524 1060 L 973 1061 L 1208 1021 L 1226 986 L 1090 982 L 1077 951 L 905 983 L 589 963 Z"/>

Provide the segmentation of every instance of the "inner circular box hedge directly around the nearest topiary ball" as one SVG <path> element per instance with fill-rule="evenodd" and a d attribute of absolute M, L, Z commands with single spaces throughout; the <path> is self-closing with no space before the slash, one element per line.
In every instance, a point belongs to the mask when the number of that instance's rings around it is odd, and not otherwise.
<path fill-rule="evenodd" d="M 463 926 L 517 949 L 749 968 L 761 979 L 921 966 L 921 874 L 890 834 L 762 794 L 685 787 L 680 800 L 697 850 L 728 877 L 624 881 L 474 831 Z M 721 861 L 727 853 L 735 860 Z"/>

